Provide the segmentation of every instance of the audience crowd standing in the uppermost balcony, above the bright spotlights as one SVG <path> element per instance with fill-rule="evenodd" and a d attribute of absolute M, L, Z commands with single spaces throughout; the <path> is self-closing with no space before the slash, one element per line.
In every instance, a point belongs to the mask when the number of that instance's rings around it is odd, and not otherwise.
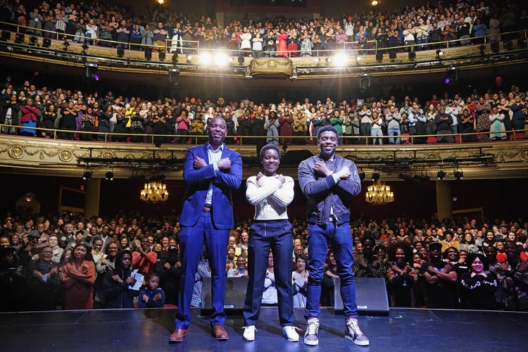
<path fill-rule="evenodd" d="M 212 13 L 189 15 L 165 6 L 146 6 L 134 13 L 127 6 L 103 3 L 42 4 L 26 8 L 23 1 L 1 1 L 0 21 L 27 26 L 27 33 L 72 39 L 124 49 L 189 53 L 196 48 L 229 49 L 262 56 L 326 55 L 339 49 L 373 53 L 374 48 L 414 45 L 413 50 L 511 40 L 510 32 L 528 28 L 527 8 L 515 1 L 433 1 L 391 11 L 371 10 L 332 17 L 232 18 L 217 23 Z M 325 6 L 321 9 L 325 13 Z M 505 33 L 505 34 L 503 34 Z M 108 42 L 107 42 L 108 41 Z M 401 48 L 400 48 L 401 49 Z M 163 58 L 163 55 L 161 56 Z"/>

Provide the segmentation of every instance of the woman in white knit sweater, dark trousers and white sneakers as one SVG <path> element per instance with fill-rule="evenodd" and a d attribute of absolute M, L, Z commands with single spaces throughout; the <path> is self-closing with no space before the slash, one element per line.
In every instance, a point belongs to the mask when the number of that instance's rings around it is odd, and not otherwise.
<path fill-rule="evenodd" d="M 264 291 L 270 249 L 273 273 L 279 303 L 279 321 L 282 335 L 289 341 L 298 341 L 294 327 L 293 291 L 289 267 L 294 250 L 293 226 L 288 220 L 287 206 L 294 200 L 294 180 L 277 175 L 280 149 L 275 144 L 263 146 L 260 161 L 264 173 L 251 176 L 246 182 L 246 198 L 255 206 L 253 225 L 249 229 L 249 282 L 244 303 L 244 339 L 255 339 L 256 323 Z"/>

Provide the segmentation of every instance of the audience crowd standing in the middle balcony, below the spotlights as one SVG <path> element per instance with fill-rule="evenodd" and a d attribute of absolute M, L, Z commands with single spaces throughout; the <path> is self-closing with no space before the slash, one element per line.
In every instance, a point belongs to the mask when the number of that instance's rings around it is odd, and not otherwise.
<path fill-rule="evenodd" d="M 473 89 L 467 95 L 389 96 L 334 101 L 225 101 L 185 96 L 148 99 L 108 91 L 36 87 L 6 77 L 0 92 L 1 133 L 84 141 L 199 144 L 211 118 L 227 125 L 227 144 L 313 144 L 325 125 L 341 144 L 479 142 L 524 133 L 526 87 Z M 57 131 L 58 130 L 58 131 Z M 519 136 L 517 136 L 519 137 Z M 517 138 L 516 137 L 516 138 Z"/>

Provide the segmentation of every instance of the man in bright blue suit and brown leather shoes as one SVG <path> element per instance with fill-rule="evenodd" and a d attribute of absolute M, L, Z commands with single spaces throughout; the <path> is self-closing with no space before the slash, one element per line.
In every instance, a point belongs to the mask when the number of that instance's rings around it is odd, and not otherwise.
<path fill-rule="evenodd" d="M 231 191 L 238 189 L 242 182 L 242 159 L 224 144 L 227 126 L 223 118 L 210 120 L 207 132 L 208 143 L 190 148 L 185 156 L 183 177 L 188 187 L 180 215 L 182 279 L 176 329 L 170 334 L 170 343 L 183 341 L 189 332 L 194 274 L 204 241 L 215 310 L 210 317 L 212 334 L 217 340 L 228 339 L 224 328 L 225 256 L 230 230 L 234 227 Z"/>

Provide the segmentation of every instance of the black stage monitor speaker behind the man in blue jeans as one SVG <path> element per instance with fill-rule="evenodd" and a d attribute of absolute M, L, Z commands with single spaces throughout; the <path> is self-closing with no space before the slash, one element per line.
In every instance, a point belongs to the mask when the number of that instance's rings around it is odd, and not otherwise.
<path fill-rule="evenodd" d="M 356 303 L 359 315 L 389 315 L 389 298 L 384 277 L 356 277 Z M 334 278 L 334 313 L 343 314 L 341 279 Z"/>

